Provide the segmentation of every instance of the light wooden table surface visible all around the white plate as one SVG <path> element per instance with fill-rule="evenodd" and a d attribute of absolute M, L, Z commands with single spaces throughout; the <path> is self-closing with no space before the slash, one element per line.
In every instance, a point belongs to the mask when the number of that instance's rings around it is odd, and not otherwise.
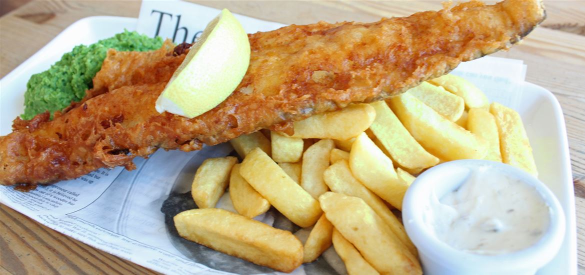
<path fill-rule="evenodd" d="M 441 8 L 426 2 L 201 2 L 282 23 L 374 21 Z M 548 19 L 523 44 L 496 56 L 522 59 L 526 80 L 554 92 L 565 114 L 577 208 L 579 273 L 585 274 L 585 1 L 545 1 Z M 137 17 L 135 1 L 38 1 L 0 18 L 0 77 L 78 19 Z M 3 118 L 6 119 L 6 118 Z M 152 273 L 91 248 L 0 205 L 0 273 Z"/>

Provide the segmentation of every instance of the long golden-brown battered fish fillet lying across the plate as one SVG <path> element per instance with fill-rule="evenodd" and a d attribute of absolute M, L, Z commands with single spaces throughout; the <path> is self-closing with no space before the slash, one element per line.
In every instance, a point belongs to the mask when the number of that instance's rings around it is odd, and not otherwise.
<path fill-rule="evenodd" d="M 0 137 L 0 183 L 49 184 L 125 166 L 158 148 L 184 151 L 352 102 L 399 94 L 462 61 L 507 49 L 545 18 L 539 1 L 467 2 L 374 23 L 291 25 L 249 35 L 250 67 L 237 90 L 196 118 L 159 114 L 154 102 L 184 54 L 110 51 L 84 102 Z"/>

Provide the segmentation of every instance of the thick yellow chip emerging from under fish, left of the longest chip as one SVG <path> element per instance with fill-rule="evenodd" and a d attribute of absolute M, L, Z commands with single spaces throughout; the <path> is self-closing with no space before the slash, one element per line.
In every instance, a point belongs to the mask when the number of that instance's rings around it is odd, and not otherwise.
<path fill-rule="evenodd" d="M 378 101 L 370 105 L 376 110 L 376 119 L 371 123 L 370 130 L 398 165 L 408 169 L 425 169 L 439 162 L 408 133 L 386 102 Z"/>

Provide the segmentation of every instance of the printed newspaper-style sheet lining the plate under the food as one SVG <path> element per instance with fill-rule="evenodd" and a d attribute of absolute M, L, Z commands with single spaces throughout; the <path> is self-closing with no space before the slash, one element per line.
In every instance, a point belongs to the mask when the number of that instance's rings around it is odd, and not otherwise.
<path fill-rule="evenodd" d="M 192 42 L 218 14 L 218 9 L 187 2 L 144 1 L 136 29 L 175 43 Z M 236 17 L 249 33 L 283 26 Z M 525 70 L 519 60 L 484 57 L 462 64 L 454 73 L 478 85 L 491 100 L 515 108 Z M 0 201 L 71 238 L 161 273 L 273 273 L 182 239 L 174 229 L 173 216 L 196 207 L 189 191 L 199 164 L 209 157 L 228 154 L 234 154 L 229 144 L 190 153 L 159 150 L 149 159 L 135 159 L 133 171 L 100 169 L 27 193 L 0 185 Z M 218 207 L 233 211 L 229 195 L 222 197 Z M 292 231 L 301 240 L 310 231 L 291 224 L 275 209 L 256 219 Z M 293 274 L 305 273 L 344 274 L 345 267 L 330 248 L 316 262 L 299 267 Z"/>

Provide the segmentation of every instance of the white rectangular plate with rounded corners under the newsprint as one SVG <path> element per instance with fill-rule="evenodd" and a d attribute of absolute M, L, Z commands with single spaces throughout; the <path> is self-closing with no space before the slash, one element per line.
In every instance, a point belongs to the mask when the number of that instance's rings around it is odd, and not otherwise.
<path fill-rule="evenodd" d="M 90 44 L 134 30 L 136 18 L 94 16 L 63 30 L 49 44 L 0 80 L 0 135 L 11 132 L 12 119 L 23 112 L 23 94 L 30 75 L 51 64 L 78 44 Z M 489 94 L 488 94 L 489 97 Z M 566 236 L 559 254 L 538 274 L 576 274 L 577 248 L 573 181 L 563 112 L 554 95 L 542 87 L 524 83 L 516 108 L 522 116 L 534 149 L 539 178 L 555 193 L 567 217 Z"/>

